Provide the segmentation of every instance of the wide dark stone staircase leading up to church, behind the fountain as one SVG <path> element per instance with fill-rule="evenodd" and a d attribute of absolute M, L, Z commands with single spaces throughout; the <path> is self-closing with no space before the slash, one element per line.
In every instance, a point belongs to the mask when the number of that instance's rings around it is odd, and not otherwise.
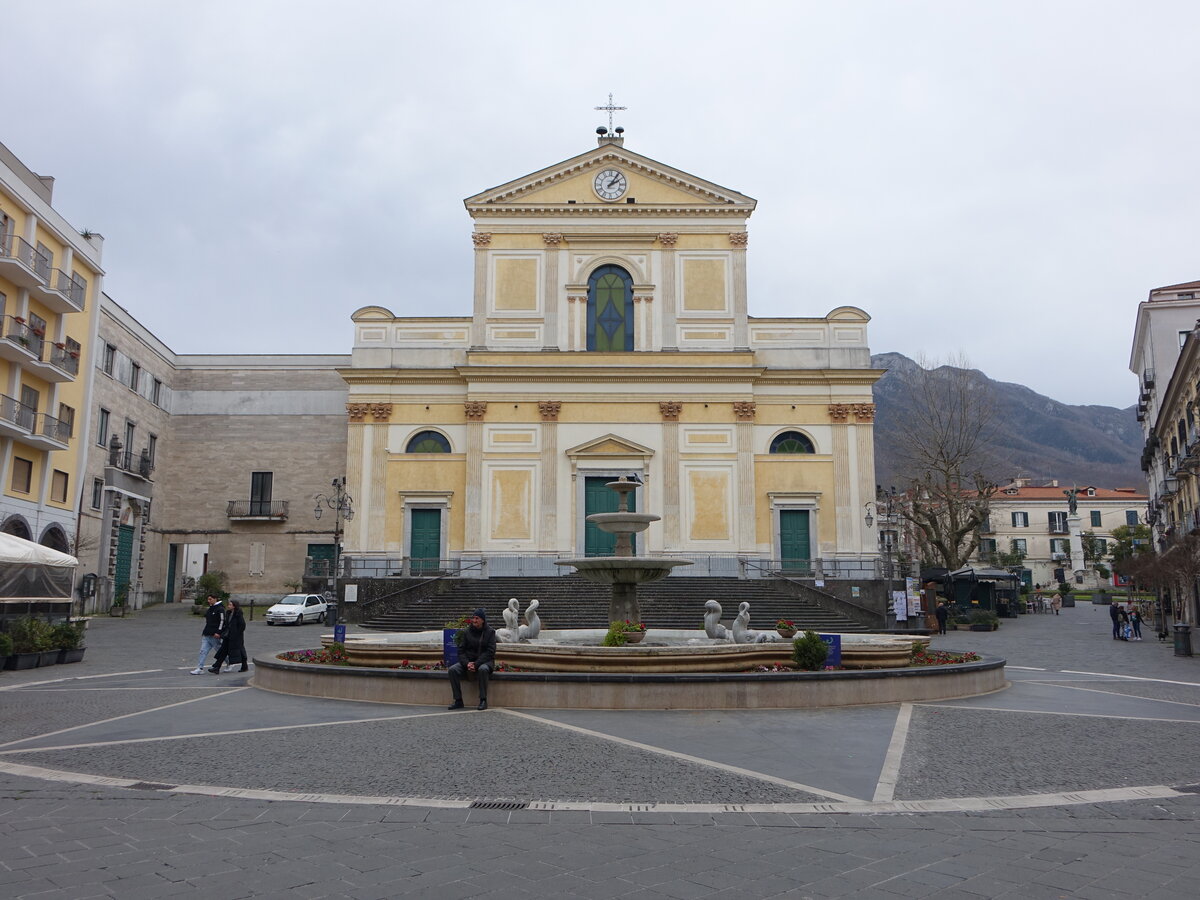
<path fill-rule="evenodd" d="M 479 606 L 487 611 L 492 628 L 503 628 L 500 612 L 512 596 L 521 601 L 522 624 L 529 601 L 538 600 L 542 628 L 608 626 L 610 588 L 577 575 L 455 578 L 442 587 L 440 593 L 397 598 L 389 612 L 364 622 L 364 628 L 386 631 L 439 629 Z M 637 596 L 647 628 L 703 629 L 707 600 L 721 605 L 721 622 L 728 628 L 738 613 L 738 604 L 745 600 L 750 604 L 750 625 L 761 631 L 773 630 L 779 619 L 792 619 L 800 629 L 814 631 L 869 630 L 814 599 L 790 595 L 769 578 L 664 578 L 642 584 Z"/>

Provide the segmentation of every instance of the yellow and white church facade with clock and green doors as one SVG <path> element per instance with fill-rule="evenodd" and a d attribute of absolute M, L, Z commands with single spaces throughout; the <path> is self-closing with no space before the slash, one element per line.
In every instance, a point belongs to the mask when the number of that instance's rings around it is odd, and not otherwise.
<path fill-rule="evenodd" d="M 679 575 L 871 577 L 870 317 L 749 316 L 755 204 L 608 136 L 468 198 L 472 314 L 353 314 L 354 574 L 559 574 L 625 475 Z"/>

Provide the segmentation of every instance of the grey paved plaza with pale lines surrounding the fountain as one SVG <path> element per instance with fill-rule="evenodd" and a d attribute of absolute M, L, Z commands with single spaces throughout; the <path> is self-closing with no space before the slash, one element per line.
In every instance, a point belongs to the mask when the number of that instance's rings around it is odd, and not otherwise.
<path fill-rule="evenodd" d="M 1106 607 L 935 640 L 1007 659 L 996 694 L 794 712 L 282 696 L 190 676 L 199 631 L 100 618 L 84 662 L 0 674 L 0 895 L 1200 893 L 1200 658 Z"/>

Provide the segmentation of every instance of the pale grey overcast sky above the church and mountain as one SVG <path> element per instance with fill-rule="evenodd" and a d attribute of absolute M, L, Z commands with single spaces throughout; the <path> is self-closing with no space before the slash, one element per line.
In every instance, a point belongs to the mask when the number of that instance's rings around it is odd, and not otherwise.
<path fill-rule="evenodd" d="M 1126 407 L 1200 278 L 1200 4 L 0 2 L 0 142 L 179 353 L 470 314 L 462 199 L 625 146 L 755 197 L 750 313 Z"/>

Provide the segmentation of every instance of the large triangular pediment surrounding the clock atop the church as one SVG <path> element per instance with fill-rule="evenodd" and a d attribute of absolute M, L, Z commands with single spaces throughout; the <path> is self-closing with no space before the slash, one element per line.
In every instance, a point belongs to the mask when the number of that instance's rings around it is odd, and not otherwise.
<path fill-rule="evenodd" d="M 610 168 L 617 169 L 628 180 L 626 190 L 613 202 L 600 199 L 593 187 L 595 176 Z M 541 212 L 547 209 L 575 214 L 604 210 L 608 215 L 679 209 L 694 214 L 749 216 L 756 205 L 751 197 L 616 144 L 604 144 L 468 197 L 463 203 L 472 216 Z"/>

